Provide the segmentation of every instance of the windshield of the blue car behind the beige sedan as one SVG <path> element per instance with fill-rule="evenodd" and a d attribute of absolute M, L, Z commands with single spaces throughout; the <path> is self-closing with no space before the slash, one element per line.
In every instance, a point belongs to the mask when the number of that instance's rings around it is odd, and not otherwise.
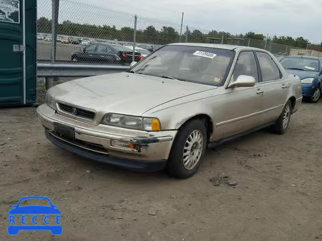
<path fill-rule="evenodd" d="M 309 57 L 285 57 L 280 61 L 285 69 L 318 71 L 318 59 Z"/>

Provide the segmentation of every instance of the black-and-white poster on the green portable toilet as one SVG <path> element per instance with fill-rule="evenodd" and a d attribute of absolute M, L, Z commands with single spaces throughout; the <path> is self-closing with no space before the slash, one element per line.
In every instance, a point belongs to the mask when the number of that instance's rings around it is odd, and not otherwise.
<path fill-rule="evenodd" d="M 0 22 L 20 23 L 20 0 L 0 0 Z"/>

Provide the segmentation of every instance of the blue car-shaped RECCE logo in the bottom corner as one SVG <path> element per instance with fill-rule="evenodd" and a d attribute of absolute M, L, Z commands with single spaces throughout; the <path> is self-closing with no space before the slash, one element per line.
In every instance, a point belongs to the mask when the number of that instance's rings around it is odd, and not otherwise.
<path fill-rule="evenodd" d="M 21 202 L 25 199 L 46 199 L 50 206 L 20 206 Z M 23 197 L 17 205 L 13 206 L 13 209 L 8 214 L 8 233 L 10 235 L 17 235 L 20 230 L 50 230 L 53 235 L 60 235 L 62 233 L 62 225 L 60 225 L 61 211 L 59 211 L 56 205 L 52 205 L 48 197 Z M 21 215 L 21 218 L 17 215 Z M 27 225 L 27 215 L 33 225 Z M 42 218 L 39 215 L 45 216 Z"/>

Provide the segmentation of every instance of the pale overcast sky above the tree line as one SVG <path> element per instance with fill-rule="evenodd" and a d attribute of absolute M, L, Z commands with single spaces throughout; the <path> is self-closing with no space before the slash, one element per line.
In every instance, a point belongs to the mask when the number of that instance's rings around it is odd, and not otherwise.
<path fill-rule="evenodd" d="M 44 1 L 49 2 L 38 0 Z M 90 8 L 85 5 L 89 2 Z M 38 3 L 38 17 L 41 10 L 45 12 L 43 6 Z M 133 22 L 132 16 L 120 12 L 109 13 L 106 17 L 107 9 L 146 17 L 141 17 L 141 22 L 138 22 L 142 28 L 149 22 L 162 26 L 168 21 L 178 30 L 184 12 L 184 26 L 189 25 L 189 29 L 200 29 L 205 33 L 212 29 L 232 34 L 252 31 L 265 36 L 302 36 L 312 43 L 322 41 L 321 0 L 60 0 L 62 14 L 59 20 L 68 16 L 71 21 L 74 18 L 72 22 L 80 23 L 116 21 L 117 27 L 118 24 Z"/>

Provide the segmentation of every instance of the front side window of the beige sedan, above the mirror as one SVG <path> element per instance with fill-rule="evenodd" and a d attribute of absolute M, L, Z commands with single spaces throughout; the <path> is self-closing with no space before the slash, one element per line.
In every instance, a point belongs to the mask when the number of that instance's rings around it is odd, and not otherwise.
<path fill-rule="evenodd" d="M 258 82 L 258 71 L 253 52 L 241 52 L 238 56 L 235 68 L 233 70 L 233 80 L 236 80 L 239 75 L 253 76 Z"/>

